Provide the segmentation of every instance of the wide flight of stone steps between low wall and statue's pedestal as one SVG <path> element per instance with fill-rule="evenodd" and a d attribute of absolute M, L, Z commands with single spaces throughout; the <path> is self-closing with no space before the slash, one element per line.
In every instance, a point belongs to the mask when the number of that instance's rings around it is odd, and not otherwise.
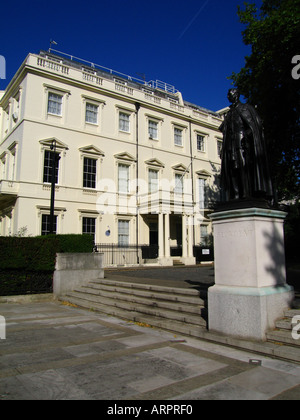
<path fill-rule="evenodd" d="M 206 330 L 206 290 L 98 279 L 60 300 L 107 315 L 200 337 Z"/>

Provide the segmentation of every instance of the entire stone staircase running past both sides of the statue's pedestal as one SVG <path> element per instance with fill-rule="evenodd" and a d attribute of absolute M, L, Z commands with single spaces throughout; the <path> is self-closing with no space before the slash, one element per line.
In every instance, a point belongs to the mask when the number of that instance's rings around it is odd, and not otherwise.
<path fill-rule="evenodd" d="M 292 337 L 292 319 L 300 316 L 300 309 L 286 311 L 284 318 L 276 322 L 276 328 L 267 333 L 267 341 L 255 343 L 208 330 L 207 287 L 204 285 L 196 290 L 97 279 L 61 296 L 60 300 L 175 335 L 202 338 L 300 363 L 300 339 Z"/>

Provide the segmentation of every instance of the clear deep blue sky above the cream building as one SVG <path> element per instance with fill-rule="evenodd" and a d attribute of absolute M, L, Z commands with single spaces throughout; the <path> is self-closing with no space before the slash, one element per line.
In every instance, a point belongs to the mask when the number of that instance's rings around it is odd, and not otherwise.
<path fill-rule="evenodd" d="M 5 89 L 28 53 L 49 48 L 147 81 L 162 80 L 189 102 L 228 105 L 227 77 L 251 51 L 237 6 L 244 0 L 15 0 L 2 2 Z M 250 0 L 261 6 L 262 0 Z"/>

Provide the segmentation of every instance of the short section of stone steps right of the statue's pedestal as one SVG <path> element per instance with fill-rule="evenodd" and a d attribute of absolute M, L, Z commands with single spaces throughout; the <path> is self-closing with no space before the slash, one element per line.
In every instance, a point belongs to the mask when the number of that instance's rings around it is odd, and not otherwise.
<path fill-rule="evenodd" d="M 299 316 L 299 319 L 300 319 L 300 309 L 289 309 L 285 311 L 284 318 L 276 321 L 275 323 L 276 328 L 267 333 L 267 341 L 276 343 L 282 346 L 293 347 L 297 349 L 300 356 L 300 339 L 295 340 L 292 337 L 292 329 L 296 325 L 296 324 L 292 325 L 292 319 L 294 316 Z M 299 330 L 297 334 L 300 335 Z"/>

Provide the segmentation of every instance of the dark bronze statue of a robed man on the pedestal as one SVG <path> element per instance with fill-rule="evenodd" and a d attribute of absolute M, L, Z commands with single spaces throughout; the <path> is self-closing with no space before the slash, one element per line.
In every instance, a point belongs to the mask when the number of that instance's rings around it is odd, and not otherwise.
<path fill-rule="evenodd" d="M 255 109 L 230 89 L 232 103 L 220 126 L 223 132 L 221 201 L 273 196 L 262 122 Z"/>

